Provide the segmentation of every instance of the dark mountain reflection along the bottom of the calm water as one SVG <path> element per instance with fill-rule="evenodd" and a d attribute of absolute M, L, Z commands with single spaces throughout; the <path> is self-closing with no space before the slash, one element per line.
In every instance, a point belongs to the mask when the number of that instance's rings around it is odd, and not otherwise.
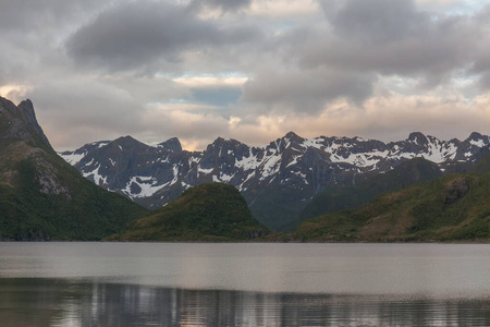
<path fill-rule="evenodd" d="M 489 299 L 0 279 L 1 326 L 489 326 Z"/>

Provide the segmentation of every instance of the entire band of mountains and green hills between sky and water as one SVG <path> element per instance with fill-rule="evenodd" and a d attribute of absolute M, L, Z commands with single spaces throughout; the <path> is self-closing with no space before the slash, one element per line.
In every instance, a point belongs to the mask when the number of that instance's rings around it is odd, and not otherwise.
<path fill-rule="evenodd" d="M 388 144 L 287 133 L 193 153 L 176 138 L 126 136 L 63 153 L 81 173 L 53 150 L 29 100 L 0 97 L 0 240 L 487 242 L 488 149 L 478 133 Z M 125 186 L 111 189 L 118 179 Z M 173 199 L 151 211 L 127 198 L 156 207 L 164 196 Z M 294 232 L 271 231 L 254 210 Z"/>

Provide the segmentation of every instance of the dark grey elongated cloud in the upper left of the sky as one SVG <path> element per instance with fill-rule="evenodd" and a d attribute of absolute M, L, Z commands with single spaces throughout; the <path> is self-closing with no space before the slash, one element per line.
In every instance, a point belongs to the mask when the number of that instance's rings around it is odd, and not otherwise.
<path fill-rule="evenodd" d="M 255 29 L 221 28 L 200 20 L 187 7 L 164 2 L 130 2 L 101 13 L 66 43 L 77 62 L 112 71 L 128 71 L 154 62 L 175 63 L 188 50 L 240 44 Z"/>

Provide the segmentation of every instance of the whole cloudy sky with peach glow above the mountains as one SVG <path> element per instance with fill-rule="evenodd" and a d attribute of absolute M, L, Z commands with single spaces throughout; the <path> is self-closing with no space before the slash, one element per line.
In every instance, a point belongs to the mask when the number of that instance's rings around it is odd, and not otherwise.
<path fill-rule="evenodd" d="M 0 96 L 58 150 L 490 134 L 490 1 L 0 0 Z"/>

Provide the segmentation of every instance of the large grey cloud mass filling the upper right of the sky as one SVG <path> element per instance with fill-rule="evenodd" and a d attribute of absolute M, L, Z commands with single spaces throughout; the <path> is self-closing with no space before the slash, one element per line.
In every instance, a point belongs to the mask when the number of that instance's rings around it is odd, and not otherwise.
<path fill-rule="evenodd" d="M 413 78 L 418 82 L 413 92 L 455 76 L 480 75 L 483 87 L 490 81 L 481 13 L 477 23 L 468 15 L 421 11 L 413 0 L 320 3 L 329 27 L 297 26 L 275 37 L 270 47 L 281 61 L 255 73 L 244 87 L 245 104 L 318 112 L 338 98 L 362 106 L 378 76 Z"/>

